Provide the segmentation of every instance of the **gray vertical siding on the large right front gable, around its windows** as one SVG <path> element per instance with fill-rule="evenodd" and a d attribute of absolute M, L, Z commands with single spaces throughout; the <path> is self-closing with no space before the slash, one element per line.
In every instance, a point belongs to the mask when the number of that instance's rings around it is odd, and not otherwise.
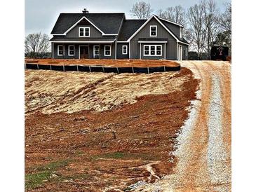
<path fill-rule="evenodd" d="M 157 36 L 151 37 L 149 34 L 150 25 L 157 25 Z M 133 39 L 130 40 L 130 58 L 139 59 L 140 58 L 140 43 L 138 43 L 140 38 L 148 39 L 168 39 L 166 43 L 166 60 L 177 60 L 177 41 L 174 37 L 169 34 L 165 28 L 155 19 L 152 18 L 147 25 L 145 25 L 140 32 L 138 32 Z M 150 43 L 148 43 L 150 44 Z M 164 47 L 163 47 L 164 49 Z M 164 51 L 164 50 L 163 50 Z M 152 57 L 151 57 L 152 58 Z M 155 57 L 161 59 L 161 57 Z M 152 58 L 153 59 L 153 58 Z"/>

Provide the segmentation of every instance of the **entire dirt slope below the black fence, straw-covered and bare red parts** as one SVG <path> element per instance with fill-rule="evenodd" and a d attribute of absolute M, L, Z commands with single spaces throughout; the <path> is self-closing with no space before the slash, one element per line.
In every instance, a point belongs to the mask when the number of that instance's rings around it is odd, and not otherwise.
<path fill-rule="evenodd" d="M 124 191 L 173 172 L 170 151 L 198 88 L 189 69 L 27 70 L 25 79 L 27 191 Z"/>

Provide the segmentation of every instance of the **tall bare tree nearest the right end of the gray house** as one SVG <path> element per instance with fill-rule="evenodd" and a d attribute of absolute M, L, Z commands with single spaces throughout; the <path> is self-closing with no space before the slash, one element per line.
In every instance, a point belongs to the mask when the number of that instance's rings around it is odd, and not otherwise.
<path fill-rule="evenodd" d="M 206 4 L 201 2 L 200 4 L 195 4 L 189 8 L 187 17 L 189 19 L 189 25 L 191 27 L 191 33 L 193 34 L 192 46 L 196 49 L 198 53 L 198 59 L 201 59 L 203 53 L 203 48 L 206 43 L 206 31 L 204 29 L 204 10 L 206 9 Z"/>

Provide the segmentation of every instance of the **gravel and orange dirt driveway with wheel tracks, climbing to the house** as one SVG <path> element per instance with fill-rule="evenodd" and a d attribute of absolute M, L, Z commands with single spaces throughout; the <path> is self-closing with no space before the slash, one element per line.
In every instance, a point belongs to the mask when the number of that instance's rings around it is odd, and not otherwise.
<path fill-rule="evenodd" d="M 231 64 L 180 63 L 201 83 L 177 137 L 175 173 L 136 191 L 231 191 Z"/>

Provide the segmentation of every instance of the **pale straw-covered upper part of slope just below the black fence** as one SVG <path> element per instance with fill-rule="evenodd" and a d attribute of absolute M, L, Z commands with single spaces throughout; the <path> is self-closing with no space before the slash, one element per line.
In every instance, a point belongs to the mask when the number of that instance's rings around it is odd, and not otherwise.
<path fill-rule="evenodd" d="M 61 71 L 25 71 L 25 112 L 43 114 L 105 111 L 133 104 L 137 97 L 181 90 L 187 76 L 179 72 L 104 74 Z M 173 78 L 176 76 L 176 78 Z"/>

